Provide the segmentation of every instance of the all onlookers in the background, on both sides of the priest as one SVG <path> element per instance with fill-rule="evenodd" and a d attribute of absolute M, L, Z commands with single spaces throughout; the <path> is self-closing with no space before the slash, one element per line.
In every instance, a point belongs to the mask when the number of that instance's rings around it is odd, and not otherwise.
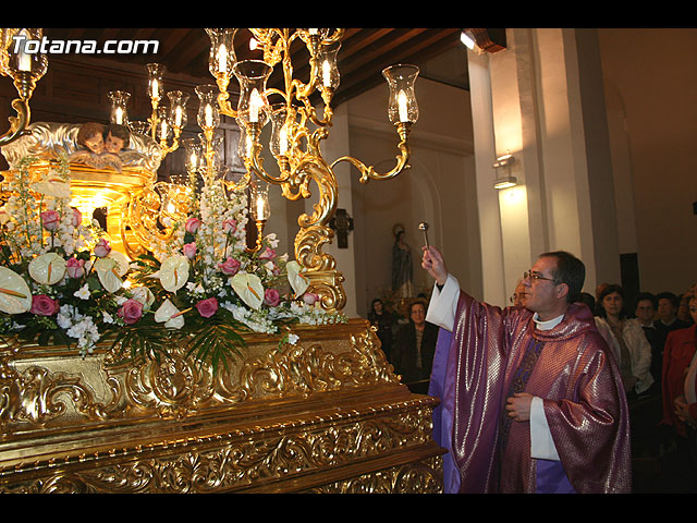
<path fill-rule="evenodd" d="M 526 306 L 529 281 L 527 287 L 525 280 L 518 281 L 511 308 Z M 672 478 L 665 490 L 678 484 L 678 489 L 693 491 L 697 485 L 697 284 L 682 295 L 643 292 L 635 303 L 628 303 L 621 285 L 601 284 L 595 296 L 582 293 L 577 302 L 590 309 L 615 358 L 628 405 L 634 462 L 652 463 L 650 474 L 657 478 L 664 479 L 667 473 L 684 475 Z M 438 326 L 426 321 L 427 311 L 428 300 L 421 295 L 406 307 L 408 323 L 399 321 L 376 299 L 368 318 L 395 373 L 416 392 L 428 390 L 439 333 Z M 662 470 L 667 460 L 677 465 Z M 641 488 L 650 491 L 651 487 Z"/>

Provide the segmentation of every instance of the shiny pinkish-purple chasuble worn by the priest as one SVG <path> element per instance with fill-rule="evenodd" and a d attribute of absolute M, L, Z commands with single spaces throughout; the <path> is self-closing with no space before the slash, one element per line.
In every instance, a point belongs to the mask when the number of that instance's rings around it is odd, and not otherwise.
<path fill-rule="evenodd" d="M 560 325 L 541 331 L 525 308 L 501 309 L 461 292 L 455 318 L 443 401 L 454 416 L 452 453 L 461 492 L 535 492 L 538 472 L 549 467 L 530 455 L 529 422 L 511 423 L 505 448 L 500 445 L 511 382 L 533 341 L 542 348 L 524 391 L 543 399 L 573 490 L 631 490 L 626 397 L 587 307 L 571 305 Z"/>

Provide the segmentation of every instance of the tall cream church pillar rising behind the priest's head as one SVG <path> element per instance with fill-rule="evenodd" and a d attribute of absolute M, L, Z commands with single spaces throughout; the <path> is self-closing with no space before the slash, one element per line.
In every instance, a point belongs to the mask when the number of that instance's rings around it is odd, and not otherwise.
<path fill-rule="evenodd" d="M 468 59 L 485 300 L 506 304 L 546 251 L 580 257 L 588 292 L 598 281 L 620 281 L 596 32 L 508 29 L 506 49 Z M 504 154 L 515 157 L 518 185 L 497 191 L 492 162 Z"/>

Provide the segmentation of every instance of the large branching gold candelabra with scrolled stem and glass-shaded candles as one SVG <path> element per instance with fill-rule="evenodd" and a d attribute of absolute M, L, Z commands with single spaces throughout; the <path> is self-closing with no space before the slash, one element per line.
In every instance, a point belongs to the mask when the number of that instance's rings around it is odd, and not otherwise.
<path fill-rule="evenodd" d="M 352 157 L 342 157 L 329 163 L 322 157 L 320 143 L 329 136 L 332 120 L 331 100 L 340 81 L 337 54 L 344 29 L 335 28 L 250 28 L 262 60 L 237 61 L 234 38 L 242 29 L 206 29 L 210 37 L 209 71 L 218 86 L 219 112 L 235 118 L 244 136 L 244 158 L 247 175 L 269 184 L 279 185 L 284 197 L 291 200 L 308 198 L 310 183 L 318 187 L 318 203 L 311 215 L 298 217 L 299 232 L 295 238 L 295 258 L 310 282 L 310 290 L 321 297 L 326 309 L 341 309 L 345 305 L 343 276 L 337 270 L 334 258 L 322 252 L 330 243 L 333 231 L 329 221 L 337 210 L 338 183 L 334 166 L 346 161 L 360 172 L 360 182 L 387 180 L 408 168 L 407 144 L 412 125 L 418 119 L 418 106 L 414 95 L 414 82 L 418 68 L 394 65 L 382 74 L 390 87 L 389 119 L 396 126 L 400 138 L 399 156 L 392 170 L 378 173 Z M 309 51 L 309 80 L 307 83 L 293 77 L 291 46 L 301 39 Z M 282 70 L 282 87 L 267 87 L 273 69 Z M 232 77 L 240 87 L 236 108 L 230 101 L 229 86 Z M 315 93 L 322 100 L 321 117 L 310 98 Z M 270 104 L 270 98 L 279 98 Z M 218 110 L 215 111 L 218 114 Z M 278 173 L 262 166 L 262 127 L 271 122 L 269 149 L 276 159 Z M 249 178 L 247 178 L 248 183 Z"/>

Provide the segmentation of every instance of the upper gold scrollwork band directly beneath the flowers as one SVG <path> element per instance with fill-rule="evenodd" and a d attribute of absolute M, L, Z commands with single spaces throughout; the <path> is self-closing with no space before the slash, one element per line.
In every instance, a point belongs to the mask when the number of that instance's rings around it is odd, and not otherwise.
<path fill-rule="evenodd" d="M 217 374 L 178 346 L 168 358 L 137 364 L 103 348 L 83 360 L 65 348 L 7 346 L 0 351 L 0 426 L 181 419 L 249 400 L 399 385 L 375 331 L 363 324 L 337 326 L 345 330 L 340 340 L 328 339 L 322 327 L 298 330 L 301 341 L 283 350 L 274 338 L 264 343 L 250 338 L 244 357 Z"/>

